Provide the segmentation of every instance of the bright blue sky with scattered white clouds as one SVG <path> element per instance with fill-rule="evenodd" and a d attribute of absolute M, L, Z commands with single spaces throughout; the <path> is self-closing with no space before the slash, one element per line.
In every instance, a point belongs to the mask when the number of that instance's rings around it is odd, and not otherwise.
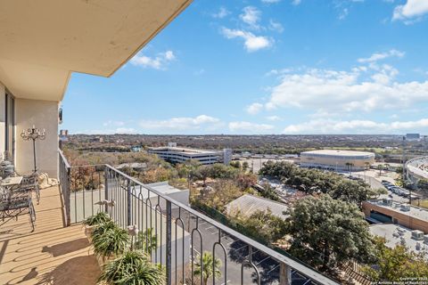
<path fill-rule="evenodd" d="M 62 109 L 70 134 L 428 134 L 428 1 L 194 0 Z"/>

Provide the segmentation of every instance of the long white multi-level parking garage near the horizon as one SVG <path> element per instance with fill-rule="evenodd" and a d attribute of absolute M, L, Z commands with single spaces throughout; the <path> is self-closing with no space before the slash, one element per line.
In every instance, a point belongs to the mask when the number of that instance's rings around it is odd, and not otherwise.
<path fill-rule="evenodd" d="M 232 160 L 231 149 L 224 149 L 223 151 L 205 151 L 179 148 L 175 142 L 169 142 L 169 145 L 166 147 L 149 148 L 147 152 L 157 154 L 161 159 L 177 163 L 183 163 L 193 159 L 199 161 L 202 165 L 214 163 L 224 163 L 227 165 L 230 160 Z"/>

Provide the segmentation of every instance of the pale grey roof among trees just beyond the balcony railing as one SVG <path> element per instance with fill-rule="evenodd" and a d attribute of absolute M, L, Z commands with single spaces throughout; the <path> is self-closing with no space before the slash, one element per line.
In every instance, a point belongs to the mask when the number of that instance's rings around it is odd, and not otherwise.
<path fill-rule="evenodd" d="M 281 218 L 287 217 L 283 214 L 288 209 L 287 205 L 272 201 L 270 199 L 264 199 L 250 194 L 244 194 L 243 196 L 234 199 L 232 202 L 226 205 L 227 212 L 239 210 L 244 216 L 251 216 L 254 212 L 261 210 L 266 211 L 270 209 L 272 215 L 279 216 Z"/>

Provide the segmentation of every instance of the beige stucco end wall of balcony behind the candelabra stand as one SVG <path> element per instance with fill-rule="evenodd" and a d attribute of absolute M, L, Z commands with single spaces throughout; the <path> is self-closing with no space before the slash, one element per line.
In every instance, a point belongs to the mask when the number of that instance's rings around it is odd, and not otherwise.
<path fill-rule="evenodd" d="M 58 102 L 16 99 L 15 167 L 19 174 L 29 174 L 34 168 L 32 141 L 21 139 L 23 129 L 35 125 L 44 129 L 46 138 L 37 140 L 37 168 L 50 177 L 58 177 Z"/>

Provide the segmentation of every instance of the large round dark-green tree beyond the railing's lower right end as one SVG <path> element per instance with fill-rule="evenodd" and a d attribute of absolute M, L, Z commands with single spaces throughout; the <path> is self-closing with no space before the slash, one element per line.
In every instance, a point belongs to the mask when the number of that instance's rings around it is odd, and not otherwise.
<path fill-rule="evenodd" d="M 331 271 L 354 260 L 374 261 L 368 224 L 357 206 L 332 199 L 307 197 L 290 210 L 287 232 L 290 253 L 321 271 Z"/>

